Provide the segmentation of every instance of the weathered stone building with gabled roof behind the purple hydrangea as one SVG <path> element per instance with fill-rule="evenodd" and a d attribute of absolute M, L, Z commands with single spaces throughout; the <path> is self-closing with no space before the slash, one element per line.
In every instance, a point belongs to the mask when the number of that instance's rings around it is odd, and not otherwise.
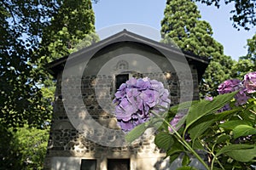
<path fill-rule="evenodd" d="M 56 78 L 44 169 L 173 169 L 154 145 L 154 129 L 132 144 L 117 126 L 112 99 L 122 82 L 163 82 L 172 105 L 199 99 L 208 60 L 130 31 L 120 31 L 49 65 Z"/>

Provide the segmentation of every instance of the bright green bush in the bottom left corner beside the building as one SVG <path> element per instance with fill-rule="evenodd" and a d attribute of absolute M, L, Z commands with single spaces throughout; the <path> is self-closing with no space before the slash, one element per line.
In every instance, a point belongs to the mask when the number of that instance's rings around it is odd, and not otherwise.
<path fill-rule="evenodd" d="M 0 128 L 0 169 L 43 169 L 49 127 Z"/>

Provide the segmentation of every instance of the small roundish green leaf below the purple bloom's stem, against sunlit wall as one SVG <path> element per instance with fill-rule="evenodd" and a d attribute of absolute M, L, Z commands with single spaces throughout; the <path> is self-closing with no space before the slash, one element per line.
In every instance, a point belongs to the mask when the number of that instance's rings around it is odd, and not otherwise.
<path fill-rule="evenodd" d="M 172 144 L 174 144 L 174 139 L 169 133 L 158 133 L 154 138 L 154 144 L 161 149 L 169 150 Z"/>

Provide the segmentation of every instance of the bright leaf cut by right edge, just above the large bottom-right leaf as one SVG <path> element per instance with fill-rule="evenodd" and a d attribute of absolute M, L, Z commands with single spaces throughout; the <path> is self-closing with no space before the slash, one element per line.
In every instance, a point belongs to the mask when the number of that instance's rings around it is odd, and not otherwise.
<path fill-rule="evenodd" d="M 234 128 L 233 134 L 234 134 L 234 139 L 239 138 L 241 136 L 256 134 L 256 128 L 253 128 L 248 125 L 238 125 Z"/>

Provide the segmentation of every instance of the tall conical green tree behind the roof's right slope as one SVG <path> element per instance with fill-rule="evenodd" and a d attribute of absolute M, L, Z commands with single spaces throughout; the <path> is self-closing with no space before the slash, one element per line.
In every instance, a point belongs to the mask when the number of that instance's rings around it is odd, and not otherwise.
<path fill-rule="evenodd" d="M 201 96 L 217 95 L 218 84 L 230 77 L 233 60 L 224 55 L 223 46 L 212 38 L 212 28 L 190 0 L 167 0 L 161 21 L 162 42 L 175 42 L 183 51 L 212 59 L 201 81 Z"/>

